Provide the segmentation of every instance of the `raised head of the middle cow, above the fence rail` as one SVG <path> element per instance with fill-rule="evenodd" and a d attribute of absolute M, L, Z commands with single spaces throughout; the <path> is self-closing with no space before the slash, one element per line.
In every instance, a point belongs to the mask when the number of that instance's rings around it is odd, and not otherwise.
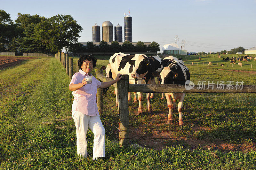
<path fill-rule="evenodd" d="M 129 64 L 134 66 L 131 73 L 132 78 L 145 78 L 145 75 L 148 73 L 148 67 L 150 65 L 148 57 L 143 54 L 136 54 L 134 59 L 135 60 L 129 61 Z"/>

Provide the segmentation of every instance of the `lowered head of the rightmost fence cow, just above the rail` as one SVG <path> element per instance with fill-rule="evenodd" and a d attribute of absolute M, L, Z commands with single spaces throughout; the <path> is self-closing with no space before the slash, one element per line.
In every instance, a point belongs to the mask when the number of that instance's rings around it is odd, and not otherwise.
<path fill-rule="evenodd" d="M 159 76 L 159 84 L 173 84 L 174 80 L 178 78 L 178 73 L 171 70 L 170 67 L 164 67 L 163 70 L 159 72 L 153 72 L 154 77 Z"/>

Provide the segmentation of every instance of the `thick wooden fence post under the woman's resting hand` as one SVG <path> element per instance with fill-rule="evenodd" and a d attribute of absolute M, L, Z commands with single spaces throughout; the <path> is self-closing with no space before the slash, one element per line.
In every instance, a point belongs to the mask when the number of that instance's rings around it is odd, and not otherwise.
<path fill-rule="evenodd" d="M 129 107 L 128 107 L 129 75 L 122 75 L 117 82 L 117 98 L 119 111 L 119 144 L 129 144 Z"/>

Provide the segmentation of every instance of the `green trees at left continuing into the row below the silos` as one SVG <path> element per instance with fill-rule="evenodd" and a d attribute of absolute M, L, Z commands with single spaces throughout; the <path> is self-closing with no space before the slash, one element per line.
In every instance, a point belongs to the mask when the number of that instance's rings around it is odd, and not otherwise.
<path fill-rule="evenodd" d="M 88 42 L 77 43 L 83 30 L 70 15 L 45 18 L 39 15 L 17 14 L 15 22 L 10 14 L 0 10 L 0 52 L 56 53 L 67 49 L 70 52 L 146 52 L 159 51 L 159 44 L 152 42 L 148 47 L 141 41 L 137 45 L 118 42 L 111 45 L 101 41 L 99 46 Z"/>

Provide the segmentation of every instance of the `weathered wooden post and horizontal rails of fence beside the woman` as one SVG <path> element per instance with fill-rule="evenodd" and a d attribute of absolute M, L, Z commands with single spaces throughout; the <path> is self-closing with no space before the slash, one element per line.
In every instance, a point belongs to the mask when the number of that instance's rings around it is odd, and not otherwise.
<path fill-rule="evenodd" d="M 96 78 L 102 82 L 112 81 L 113 79 L 101 74 L 100 70 L 97 70 Z M 256 85 L 243 85 L 236 89 L 235 85 L 233 89 L 219 89 L 216 84 L 212 84 L 209 89 L 208 85 L 202 88 L 202 85 L 194 85 L 192 89 L 186 89 L 185 85 L 152 85 L 152 84 L 128 84 L 129 76 L 123 75 L 120 82 L 113 84 L 117 88 L 118 96 L 118 110 L 119 110 L 119 143 L 120 146 L 126 146 L 129 144 L 129 112 L 128 112 L 128 92 L 143 92 L 143 93 L 256 93 Z M 240 85 L 240 84 L 239 84 Z M 102 96 L 97 92 L 97 98 Z M 103 105 L 98 105 L 99 110 L 103 110 Z"/>

